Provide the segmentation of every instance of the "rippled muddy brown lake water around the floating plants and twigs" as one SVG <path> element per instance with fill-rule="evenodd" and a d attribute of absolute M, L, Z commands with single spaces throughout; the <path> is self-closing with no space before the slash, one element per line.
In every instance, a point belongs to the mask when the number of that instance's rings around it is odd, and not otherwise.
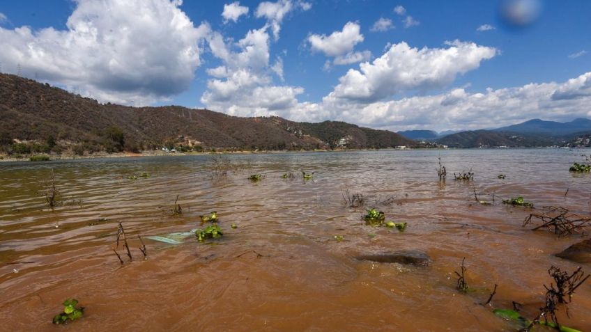
<path fill-rule="evenodd" d="M 212 177 L 209 155 L 3 163 L 0 331 L 55 331 L 52 317 L 68 297 L 86 307 L 67 326 L 72 331 L 515 331 L 493 308 L 516 301 L 534 317 L 551 282 L 548 268 L 577 267 L 553 254 L 581 237 L 523 228 L 531 210 L 501 200 L 523 196 L 538 207 L 591 214 L 591 175 L 568 171 L 583 153 L 591 152 L 227 155 L 232 169 L 222 177 Z M 436 174 L 439 156 L 445 183 Z M 473 182 L 454 181 L 452 173 L 470 168 Z M 52 170 L 66 202 L 53 210 L 38 195 Z M 281 177 L 302 170 L 314 180 Z M 144 172 L 151 176 L 128 179 Z M 265 176 L 253 183 L 247 177 L 254 173 Z M 365 207 L 344 203 L 347 189 L 388 220 L 406 221 L 406 230 L 365 226 Z M 475 202 L 474 191 L 493 205 Z M 170 215 L 176 196 L 181 216 Z M 222 239 L 144 239 L 144 259 L 137 235 L 198 228 L 199 215 L 211 211 L 220 216 Z M 112 251 L 118 221 L 134 258 L 128 262 L 119 246 L 123 267 Z M 354 258 L 397 250 L 424 251 L 433 262 Z M 455 289 L 463 258 L 475 290 L 468 294 Z M 583 269 L 591 272 L 591 264 Z M 479 305 L 494 284 L 491 306 Z M 591 282 L 579 287 L 569 313 L 560 312 L 562 323 L 591 331 Z"/>

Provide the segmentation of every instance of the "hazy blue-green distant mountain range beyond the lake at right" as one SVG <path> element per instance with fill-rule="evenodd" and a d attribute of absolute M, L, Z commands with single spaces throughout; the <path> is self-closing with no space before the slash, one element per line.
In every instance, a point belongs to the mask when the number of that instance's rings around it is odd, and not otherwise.
<path fill-rule="evenodd" d="M 577 118 L 570 122 L 528 120 L 497 129 L 437 133 L 431 130 L 398 132 L 417 141 L 432 141 L 450 148 L 581 146 L 591 134 L 591 120 Z"/>

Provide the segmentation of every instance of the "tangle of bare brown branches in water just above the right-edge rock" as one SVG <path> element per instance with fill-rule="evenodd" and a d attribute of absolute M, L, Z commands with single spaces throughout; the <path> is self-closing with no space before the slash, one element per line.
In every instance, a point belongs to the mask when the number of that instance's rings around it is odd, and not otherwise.
<path fill-rule="evenodd" d="M 542 222 L 532 230 L 546 228 L 559 237 L 573 235 L 574 233 L 584 233 L 585 230 L 591 230 L 591 217 L 579 216 L 571 213 L 565 207 L 547 207 L 544 212 L 530 214 L 523 221 L 523 227 L 533 223 L 534 219 Z"/>

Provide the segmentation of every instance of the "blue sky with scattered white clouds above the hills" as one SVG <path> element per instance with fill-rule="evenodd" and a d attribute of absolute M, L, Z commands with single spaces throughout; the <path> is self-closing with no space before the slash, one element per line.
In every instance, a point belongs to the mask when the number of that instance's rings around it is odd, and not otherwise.
<path fill-rule="evenodd" d="M 0 72 L 132 106 L 436 131 L 591 118 L 588 0 L 0 0 Z"/>

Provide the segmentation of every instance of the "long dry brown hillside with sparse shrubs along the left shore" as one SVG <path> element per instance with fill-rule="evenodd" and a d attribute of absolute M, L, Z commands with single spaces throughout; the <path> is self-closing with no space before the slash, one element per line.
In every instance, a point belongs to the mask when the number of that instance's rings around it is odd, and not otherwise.
<path fill-rule="evenodd" d="M 28 146 L 18 145 L 20 141 Z M 387 148 L 417 146 L 417 143 L 394 132 L 345 122 L 240 118 L 182 106 L 100 104 L 49 84 L 0 74 L 0 145 L 5 152 L 68 149 L 80 154 L 100 150 L 153 150 L 162 146 L 206 150 L 309 150 Z M 16 151 L 13 148 L 17 148 Z"/>

